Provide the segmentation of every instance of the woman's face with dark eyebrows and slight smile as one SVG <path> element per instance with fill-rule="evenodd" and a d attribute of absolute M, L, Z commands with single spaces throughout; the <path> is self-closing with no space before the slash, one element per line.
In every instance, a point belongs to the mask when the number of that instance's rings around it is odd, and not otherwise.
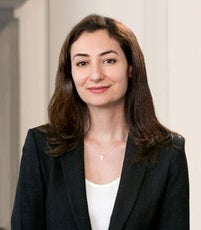
<path fill-rule="evenodd" d="M 75 87 L 89 108 L 124 103 L 131 68 L 114 38 L 105 30 L 84 32 L 70 54 Z"/>

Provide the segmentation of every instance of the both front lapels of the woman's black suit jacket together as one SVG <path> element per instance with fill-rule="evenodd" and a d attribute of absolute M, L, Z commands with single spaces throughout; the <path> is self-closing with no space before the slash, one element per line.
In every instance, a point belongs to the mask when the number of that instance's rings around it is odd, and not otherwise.
<path fill-rule="evenodd" d="M 136 146 L 128 137 L 119 189 L 110 220 L 109 230 L 122 229 L 135 205 L 146 172 L 146 164 L 131 164 Z M 78 229 L 90 230 L 85 175 L 83 143 L 61 157 L 65 187 Z M 125 199 L 126 197 L 126 199 Z"/>

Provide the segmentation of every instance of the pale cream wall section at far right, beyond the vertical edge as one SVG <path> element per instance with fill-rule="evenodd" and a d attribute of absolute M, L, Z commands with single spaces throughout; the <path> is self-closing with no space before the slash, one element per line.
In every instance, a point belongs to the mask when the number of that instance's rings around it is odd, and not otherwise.
<path fill-rule="evenodd" d="M 201 1 L 169 1 L 168 123 L 186 138 L 191 229 L 201 229 Z"/>

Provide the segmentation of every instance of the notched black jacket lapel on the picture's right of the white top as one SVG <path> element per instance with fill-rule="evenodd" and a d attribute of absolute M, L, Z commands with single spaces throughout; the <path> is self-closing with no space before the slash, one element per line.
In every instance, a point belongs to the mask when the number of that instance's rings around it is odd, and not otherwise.
<path fill-rule="evenodd" d="M 135 152 L 136 146 L 131 138 L 128 137 L 121 180 L 109 230 L 123 229 L 140 191 L 147 167 L 145 162 L 132 164 L 132 158 Z"/>

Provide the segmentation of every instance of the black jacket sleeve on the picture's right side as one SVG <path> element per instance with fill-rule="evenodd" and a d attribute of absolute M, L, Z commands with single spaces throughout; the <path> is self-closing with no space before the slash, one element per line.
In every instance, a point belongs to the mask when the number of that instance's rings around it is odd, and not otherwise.
<path fill-rule="evenodd" d="M 184 139 L 173 141 L 167 187 L 161 203 L 159 230 L 189 230 L 189 178 Z"/>

